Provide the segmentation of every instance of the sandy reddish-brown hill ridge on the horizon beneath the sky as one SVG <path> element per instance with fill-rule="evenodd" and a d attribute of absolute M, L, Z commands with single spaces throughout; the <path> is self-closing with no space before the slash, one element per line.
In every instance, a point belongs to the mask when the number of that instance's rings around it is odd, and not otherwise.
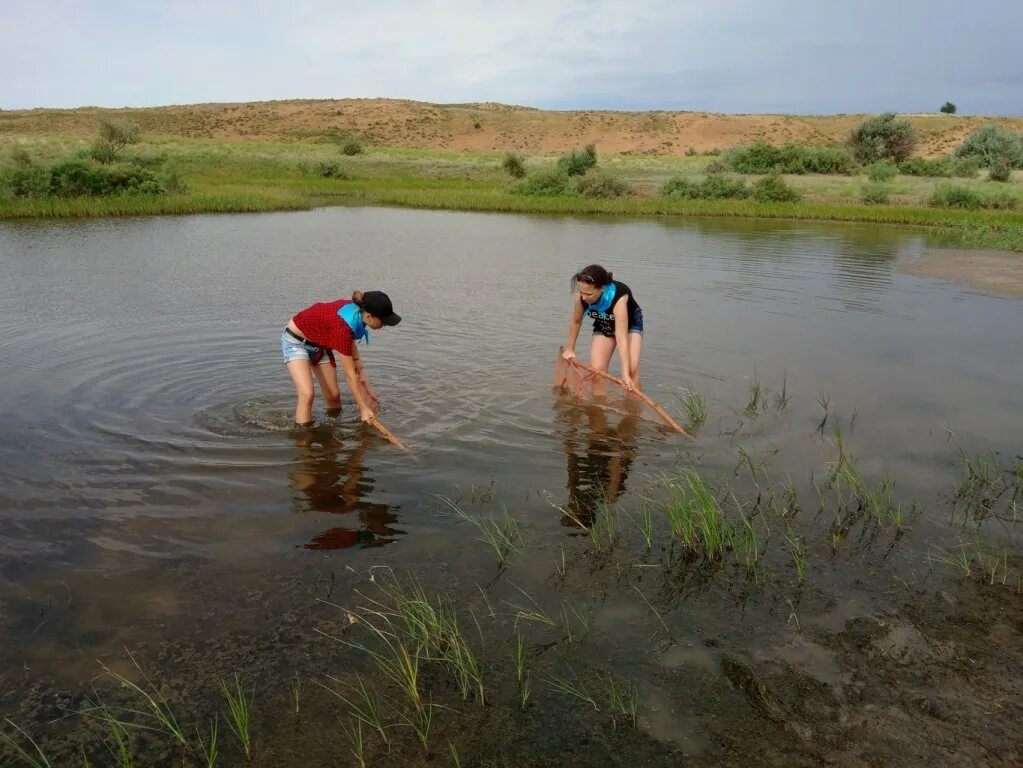
<path fill-rule="evenodd" d="M 557 152 L 594 143 L 605 153 L 682 154 L 764 139 L 842 141 L 862 115 L 721 115 L 686 111 L 533 109 L 495 103 L 431 104 L 400 99 L 262 101 L 137 109 L 0 111 L 0 137 L 92 135 L 97 116 L 132 120 L 148 135 L 315 141 L 339 133 L 372 144 L 470 151 Z M 919 151 L 951 151 L 974 128 L 996 122 L 1023 131 L 1023 118 L 904 116 L 921 135 Z"/>

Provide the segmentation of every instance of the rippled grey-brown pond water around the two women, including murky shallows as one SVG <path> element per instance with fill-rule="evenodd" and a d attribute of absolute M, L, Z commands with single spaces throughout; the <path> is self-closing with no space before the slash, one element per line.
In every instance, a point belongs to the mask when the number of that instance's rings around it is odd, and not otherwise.
<path fill-rule="evenodd" d="M 573 701 L 557 683 L 541 690 L 537 672 L 525 711 L 439 726 L 476 756 L 462 764 L 504 764 L 495 734 L 528 730 L 517 717 L 533 718 L 533 751 L 508 764 L 574 750 L 564 764 L 618 751 L 651 764 L 761 755 L 858 765 L 899 755 L 907 739 L 923 761 L 947 757 L 979 723 L 989 731 L 971 736 L 970 760 L 1019 759 L 1010 724 L 1023 707 L 1023 300 L 899 270 L 932 245 L 864 225 L 358 208 L 0 225 L 4 712 L 27 725 L 66 715 L 70 705 L 46 695 L 80 703 L 97 659 L 130 672 L 126 649 L 193 682 L 258 668 L 284 695 L 288 675 L 317 673 L 294 659 L 306 653 L 300 640 L 329 648 L 308 651 L 316 664 L 338 653 L 309 634 L 337 621 L 323 600 L 345 603 L 340 595 L 387 568 L 451 590 L 504 641 L 536 624 L 529 604 L 571 603 L 557 638 L 542 622 L 527 638 L 537 659 L 552 664 L 546 648 L 582 624 L 586 641 L 568 643 L 572 669 L 599 685 L 613 668 L 637 686 L 636 728 L 603 705 L 561 723 L 588 734 L 583 749 L 534 722 Z M 569 277 L 592 262 L 643 308 L 643 390 L 680 421 L 679 396 L 703 397 L 694 440 L 627 404 L 552 392 Z M 387 290 L 404 317 L 362 355 L 380 418 L 412 456 L 358 423 L 344 387 L 340 417 L 324 417 L 320 401 L 314 430 L 291 428 L 280 330 L 309 304 L 356 288 Z M 580 353 L 588 341 L 584 325 Z M 971 526 L 951 514 L 968 471 L 961 450 L 983 465 L 990 457 L 1004 486 Z M 900 511 L 873 527 L 834 522 L 842 510 L 817 491 L 843 455 L 872 487 L 889 478 Z M 762 517 L 761 576 L 697 574 L 692 557 L 679 576 L 671 545 L 643 546 L 638 510 L 685 468 L 719 490 L 735 484 L 740 527 L 743 515 Z M 755 500 L 764 494 L 774 516 Z M 789 512 L 786 498 L 798 499 Z M 520 543 L 503 568 L 445 499 L 480 519 L 507 510 Z M 579 527 L 606 504 L 632 532 L 613 556 Z M 970 541 L 975 573 L 964 578 L 948 560 Z M 1002 571 L 984 570 L 998 557 Z M 937 628 L 949 617 L 962 636 Z M 282 624 L 298 634 L 280 639 Z M 287 661 L 261 644 L 271 636 Z M 987 676 L 955 678 L 960 688 L 939 695 L 959 653 L 976 654 L 971 643 L 994 654 L 978 662 Z M 864 672 L 878 659 L 890 669 Z M 864 692 L 898 688 L 914 665 L 929 672 L 911 694 Z M 565 679 L 554 666 L 543 679 Z M 921 718 L 947 743 L 926 725 L 907 734 L 904 723 Z M 856 729 L 870 747 L 850 746 Z M 444 738 L 431 749 L 447 761 Z M 267 765 L 313 754 L 305 738 L 265 740 L 276 744 L 264 744 Z"/>

